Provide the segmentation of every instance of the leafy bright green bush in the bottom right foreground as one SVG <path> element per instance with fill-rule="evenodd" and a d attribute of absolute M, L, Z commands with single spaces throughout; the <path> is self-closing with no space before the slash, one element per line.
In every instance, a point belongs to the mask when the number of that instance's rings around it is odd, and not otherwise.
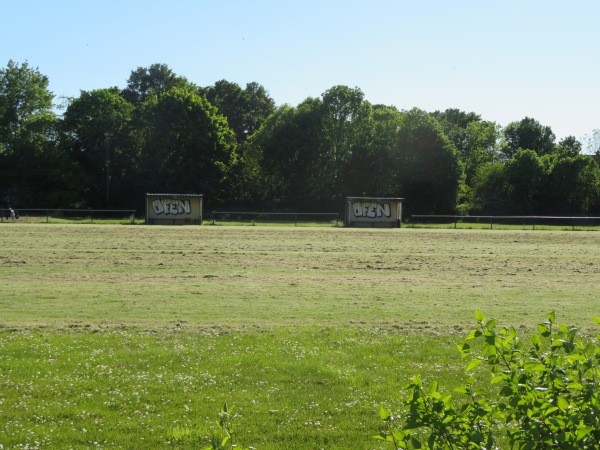
<path fill-rule="evenodd" d="M 398 423 L 382 407 L 386 428 L 375 438 L 396 449 L 598 448 L 600 347 L 558 324 L 554 312 L 528 345 L 514 327 L 499 328 L 481 311 L 475 317 L 477 327 L 458 346 L 468 378 L 457 398 L 437 382 L 426 390 L 417 375 L 406 385 L 405 417 Z M 491 394 L 476 387 L 486 366 Z"/>

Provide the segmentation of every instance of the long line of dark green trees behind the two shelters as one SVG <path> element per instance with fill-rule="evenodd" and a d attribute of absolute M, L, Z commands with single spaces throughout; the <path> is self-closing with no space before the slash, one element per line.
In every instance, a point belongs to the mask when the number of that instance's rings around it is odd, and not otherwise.
<path fill-rule="evenodd" d="M 376 196 L 405 198 L 406 214 L 600 214 L 598 130 L 557 142 L 530 117 L 398 110 L 347 86 L 277 106 L 258 83 L 197 86 L 165 64 L 62 110 L 48 86 L 27 62 L 0 69 L 2 208 L 143 211 L 153 192 L 263 211 Z"/>

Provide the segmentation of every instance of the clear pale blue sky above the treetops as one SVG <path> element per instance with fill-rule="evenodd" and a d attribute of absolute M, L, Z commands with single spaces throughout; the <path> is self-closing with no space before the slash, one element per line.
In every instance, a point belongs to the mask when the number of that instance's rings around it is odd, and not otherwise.
<path fill-rule="evenodd" d="M 200 86 L 256 81 L 277 105 L 343 84 L 558 138 L 600 128 L 597 0 L 0 1 L 0 65 L 27 61 L 57 99 L 163 63 Z"/>

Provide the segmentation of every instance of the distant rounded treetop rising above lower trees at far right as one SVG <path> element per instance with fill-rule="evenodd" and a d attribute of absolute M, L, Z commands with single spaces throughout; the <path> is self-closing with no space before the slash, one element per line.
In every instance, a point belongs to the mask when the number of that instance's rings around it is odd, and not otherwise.
<path fill-rule="evenodd" d="M 519 149 L 533 150 L 539 156 L 553 153 L 556 149 L 556 136 L 552 129 L 531 117 L 509 123 L 504 129 L 504 139 L 508 159 L 512 158 Z"/>

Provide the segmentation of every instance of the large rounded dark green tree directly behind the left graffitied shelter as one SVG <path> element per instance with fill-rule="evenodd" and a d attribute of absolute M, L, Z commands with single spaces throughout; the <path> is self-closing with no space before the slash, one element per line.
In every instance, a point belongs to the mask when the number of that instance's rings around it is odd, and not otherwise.
<path fill-rule="evenodd" d="M 202 193 L 207 203 L 226 191 L 236 162 L 235 136 L 225 117 L 195 89 L 174 87 L 146 99 L 142 148 L 144 192 Z"/>

